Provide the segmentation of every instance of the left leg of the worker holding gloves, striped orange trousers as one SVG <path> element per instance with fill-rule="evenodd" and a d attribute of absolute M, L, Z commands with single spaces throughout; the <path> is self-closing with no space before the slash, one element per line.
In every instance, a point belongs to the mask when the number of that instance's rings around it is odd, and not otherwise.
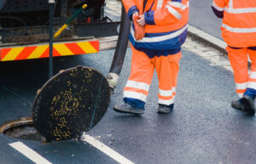
<path fill-rule="evenodd" d="M 149 86 L 154 75 L 154 64 L 147 54 L 138 51 L 132 46 L 131 50 L 131 74 L 124 88 L 124 101 L 128 105 L 115 105 L 113 108 L 116 111 L 125 113 L 134 113 L 133 110 L 130 112 L 131 107 L 134 109 L 145 108 Z"/>

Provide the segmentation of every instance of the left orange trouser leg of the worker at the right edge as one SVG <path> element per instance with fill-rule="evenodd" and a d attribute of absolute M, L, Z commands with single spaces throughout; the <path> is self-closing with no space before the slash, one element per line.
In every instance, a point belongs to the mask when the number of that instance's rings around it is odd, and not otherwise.
<path fill-rule="evenodd" d="M 230 65 L 234 71 L 234 79 L 236 82 L 236 93 L 239 98 L 242 97 L 243 93 L 245 93 L 248 82 L 248 69 L 247 69 L 247 48 L 226 48 Z"/>

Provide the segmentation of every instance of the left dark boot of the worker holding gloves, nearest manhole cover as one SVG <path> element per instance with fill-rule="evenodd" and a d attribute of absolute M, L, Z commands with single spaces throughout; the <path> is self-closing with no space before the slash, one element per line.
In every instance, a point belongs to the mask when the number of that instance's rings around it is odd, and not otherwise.
<path fill-rule="evenodd" d="M 123 105 L 114 105 L 113 110 L 119 113 L 130 113 L 135 115 L 142 115 L 144 113 L 144 109 L 135 109 L 127 103 L 124 103 Z"/>

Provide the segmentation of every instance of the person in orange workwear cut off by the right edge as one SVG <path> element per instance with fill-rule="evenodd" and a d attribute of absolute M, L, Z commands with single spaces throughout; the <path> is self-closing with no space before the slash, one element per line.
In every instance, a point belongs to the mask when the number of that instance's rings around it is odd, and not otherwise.
<path fill-rule="evenodd" d="M 234 71 L 236 93 L 240 98 L 233 100 L 231 106 L 253 115 L 256 96 L 256 1 L 214 0 L 212 9 L 218 18 L 223 18 L 222 37 L 228 44 L 226 50 Z M 248 55 L 252 61 L 249 75 Z"/>

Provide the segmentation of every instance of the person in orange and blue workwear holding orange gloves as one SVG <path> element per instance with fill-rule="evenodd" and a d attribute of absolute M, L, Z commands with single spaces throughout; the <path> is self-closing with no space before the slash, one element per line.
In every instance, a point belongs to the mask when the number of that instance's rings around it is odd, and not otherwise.
<path fill-rule="evenodd" d="M 181 45 L 187 37 L 189 0 L 123 0 L 132 21 L 131 74 L 124 88 L 121 113 L 143 114 L 156 69 L 159 79 L 158 112 L 172 111 L 177 87 Z"/>

